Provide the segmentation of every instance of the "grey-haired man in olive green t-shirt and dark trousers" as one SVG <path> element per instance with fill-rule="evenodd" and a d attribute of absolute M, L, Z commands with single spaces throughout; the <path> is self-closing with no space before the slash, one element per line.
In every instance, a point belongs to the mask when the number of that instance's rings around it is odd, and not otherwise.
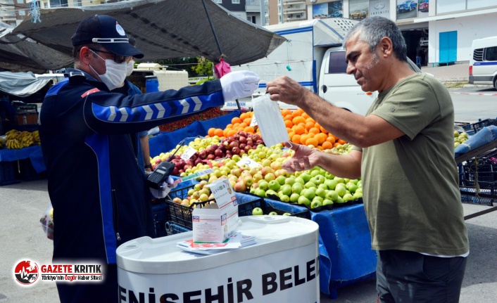
<path fill-rule="evenodd" d="M 451 97 L 436 79 L 410 69 L 401 31 L 389 19 L 361 21 L 344 44 L 348 74 L 363 91 L 379 92 L 365 117 L 336 108 L 289 77 L 268 82 L 267 91 L 356 147 L 330 155 L 286 143 L 296 152 L 284 168 L 320 166 L 337 176 L 362 176 L 378 251 L 379 302 L 458 302 L 469 244 Z"/>

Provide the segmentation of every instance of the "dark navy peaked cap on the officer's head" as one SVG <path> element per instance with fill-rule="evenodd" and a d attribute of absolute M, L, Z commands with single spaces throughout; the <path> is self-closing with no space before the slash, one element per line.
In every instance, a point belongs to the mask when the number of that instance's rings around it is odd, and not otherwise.
<path fill-rule="evenodd" d="M 98 43 L 120 56 L 143 58 L 144 54 L 129 42 L 118 20 L 110 15 L 94 15 L 84 18 L 73 34 L 73 46 Z"/>

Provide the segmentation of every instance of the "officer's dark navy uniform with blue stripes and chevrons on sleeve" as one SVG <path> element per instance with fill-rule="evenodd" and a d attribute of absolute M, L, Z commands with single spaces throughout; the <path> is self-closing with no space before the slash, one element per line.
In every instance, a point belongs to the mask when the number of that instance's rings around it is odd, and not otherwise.
<path fill-rule="evenodd" d="M 129 134 L 224 104 L 219 80 L 178 91 L 125 96 L 80 70 L 52 86 L 40 112 L 39 135 L 54 206 L 54 263 L 98 261 L 105 283 L 71 288 L 62 302 L 118 302 L 115 250 L 149 236 L 143 167 Z M 79 285 L 80 286 L 80 285 Z"/>

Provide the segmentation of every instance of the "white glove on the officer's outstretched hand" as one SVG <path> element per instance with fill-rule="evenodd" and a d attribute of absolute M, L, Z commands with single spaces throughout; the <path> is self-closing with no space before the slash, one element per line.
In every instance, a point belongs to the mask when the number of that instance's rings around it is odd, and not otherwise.
<path fill-rule="evenodd" d="M 251 96 L 259 87 L 260 77 L 255 72 L 239 70 L 222 76 L 220 81 L 226 102 Z"/>

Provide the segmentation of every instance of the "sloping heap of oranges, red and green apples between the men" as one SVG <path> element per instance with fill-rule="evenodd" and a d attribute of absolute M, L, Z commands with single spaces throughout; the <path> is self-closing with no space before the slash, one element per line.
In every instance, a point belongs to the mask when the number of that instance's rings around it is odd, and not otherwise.
<path fill-rule="evenodd" d="M 293 128 L 287 122 L 289 130 L 298 131 L 301 133 L 299 136 L 305 139 L 305 135 L 314 139 L 306 139 L 310 148 L 334 155 L 350 152 L 350 144 L 340 139 L 335 141 L 334 136 L 325 134 L 319 124 L 313 122 L 313 127 L 310 127 L 312 121 L 308 120 L 308 129 L 304 127 L 305 124 L 301 125 L 301 121 L 306 121 L 305 112 L 282 110 L 282 115 L 287 117 L 287 121 L 290 116 L 296 118 Z M 295 203 L 308 209 L 344 205 L 362 198 L 360 179 L 339 178 L 320 167 L 293 174 L 287 172 L 282 165 L 294 155 L 294 150 L 284 148 L 282 143 L 265 146 L 258 128 L 247 126 L 251 124 L 252 118 L 253 112 L 244 112 L 240 117 L 233 118 L 232 124 L 225 129 L 209 129 L 205 138 L 195 138 L 187 145 L 177 146 L 175 150 L 151 159 L 154 168 L 171 157 L 170 161 L 175 164 L 172 174 L 180 177 L 198 174 L 206 169 L 213 170 L 196 178 L 201 185 L 197 184 L 198 188 L 191 189 L 187 198 L 175 198 L 173 202 L 194 207 L 196 202 L 212 199 L 208 187 L 204 186 L 218 179 L 228 179 L 236 192 Z M 320 127 L 320 131 L 317 131 L 317 127 Z M 322 138 L 315 138 L 317 134 L 321 134 Z M 294 142 L 298 143 L 297 140 Z"/>

